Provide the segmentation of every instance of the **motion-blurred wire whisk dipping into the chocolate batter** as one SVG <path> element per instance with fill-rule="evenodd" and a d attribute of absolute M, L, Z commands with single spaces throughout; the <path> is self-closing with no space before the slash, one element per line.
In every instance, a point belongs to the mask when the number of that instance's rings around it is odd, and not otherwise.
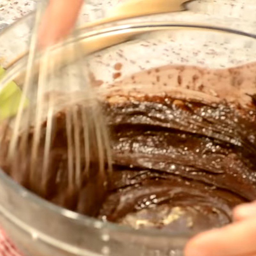
<path fill-rule="evenodd" d="M 1 124 L 0 160 L 4 171 L 23 186 L 74 208 L 70 199 L 83 192 L 86 182 L 92 182 L 98 194 L 106 189 L 111 172 L 109 132 L 86 60 L 80 57 L 78 32 L 44 52 L 38 50 L 44 10 L 39 1 L 29 53 L 1 81 L 4 85 L 25 74 L 17 114 Z M 59 59 L 52 56 L 68 42 L 68 54 L 75 61 L 60 65 L 65 52 L 56 55 Z"/>

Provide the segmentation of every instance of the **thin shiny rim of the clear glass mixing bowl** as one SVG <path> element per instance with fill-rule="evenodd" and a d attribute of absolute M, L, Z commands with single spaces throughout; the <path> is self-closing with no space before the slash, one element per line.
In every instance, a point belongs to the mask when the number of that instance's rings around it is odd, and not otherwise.
<path fill-rule="evenodd" d="M 20 20 L 25 20 L 33 15 L 34 12 L 31 12 L 27 15 L 25 15 L 22 19 Z M 20 20 L 15 21 L 12 23 L 10 26 L 7 28 L 4 28 L 3 31 L 0 32 L 0 38 L 6 31 L 10 31 L 12 28 L 15 26 L 19 25 Z M 130 19 L 129 19 L 130 20 Z M 127 20 L 127 21 L 129 21 Z M 124 22 L 126 20 L 122 20 Z M 96 36 L 96 35 L 102 35 L 102 34 L 107 34 L 109 32 L 113 31 L 120 31 L 120 30 L 125 30 L 125 29 L 143 29 L 143 28 L 195 28 L 195 29 L 206 29 L 206 30 L 214 30 L 216 32 L 224 32 L 224 33 L 231 33 L 235 34 L 237 36 L 246 36 L 252 39 L 256 39 L 256 35 L 252 33 L 247 33 L 244 31 L 240 30 L 235 30 L 227 27 L 218 27 L 218 26 L 213 26 L 210 24 L 193 24 L 190 22 L 180 22 L 177 23 L 172 22 L 172 21 L 135 21 L 132 23 L 123 23 L 121 25 L 118 24 L 118 22 L 110 22 L 106 23 L 104 25 L 97 26 L 96 29 L 94 30 L 88 30 L 87 32 L 84 32 L 84 36 Z M 165 236 L 165 237 L 191 237 L 193 233 L 184 233 L 184 232 L 168 232 L 168 231 L 160 231 L 157 229 L 139 229 L 136 230 L 134 228 L 128 227 L 128 226 L 122 226 L 118 225 L 116 223 L 111 223 L 108 221 L 101 221 L 99 219 L 89 217 L 77 212 L 70 211 L 68 209 L 65 209 L 63 207 L 60 207 L 56 204 L 53 204 L 49 201 L 47 201 L 44 198 L 41 198 L 40 196 L 37 196 L 36 194 L 32 193 L 28 189 L 22 187 L 20 184 L 16 183 L 12 178 L 10 178 L 2 169 L 0 169 L 0 180 L 6 184 L 12 191 L 14 191 L 16 194 L 18 194 L 20 197 L 24 198 L 25 200 L 34 202 L 41 207 L 47 208 L 48 210 L 55 212 L 57 214 L 62 215 L 65 218 L 68 218 L 70 220 L 76 220 L 78 221 L 79 224 L 82 226 L 87 226 L 89 228 L 96 228 L 95 223 L 100 223 L 100 228 L 104 229 L 109 229 L 109 230 L 114 230 L 118 232 L 125 232 L 125 233 L 130 233 L 135 236 Z M 75 213 L 75 214 L 74 214 Z"/>

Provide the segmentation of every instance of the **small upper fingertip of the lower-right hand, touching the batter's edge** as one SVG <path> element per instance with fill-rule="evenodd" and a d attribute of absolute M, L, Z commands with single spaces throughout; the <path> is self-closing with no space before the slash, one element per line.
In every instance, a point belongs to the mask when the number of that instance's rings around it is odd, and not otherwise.
<path fill-rule="evenodd" d="M 247 204 L 240 204 L 233 210 L 234 221 L 256 218 L 256 201 Z"/>

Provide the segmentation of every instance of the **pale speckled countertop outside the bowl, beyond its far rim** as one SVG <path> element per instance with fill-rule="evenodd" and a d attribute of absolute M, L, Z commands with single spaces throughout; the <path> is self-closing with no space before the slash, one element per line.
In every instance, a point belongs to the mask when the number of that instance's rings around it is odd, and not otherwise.
<path fill-rule="evenodd" d="M 127 0 L 87 0 L 83 9 L 84 20 L 101 18 L 106 15 L 109 8 L 123 1 Z M 35 5 L 36 0 L 1 0 L 0 29 L 31 12 Z M 194 0 L 189 1 L 186 7 L 188 9 L 186 12 L 175 14 L 177 19 L 182 16 L 186 20 L 192 20 L 195 15 L 239 18 L 240 21 L 243 20 L 245 23 L 250 21 L 252 30 L 256 30 L 256 26 L 254 26 L 254 22 L 256 22 L 255 0 Z M 245 27 L 249 29 L 248 26 Z"/>

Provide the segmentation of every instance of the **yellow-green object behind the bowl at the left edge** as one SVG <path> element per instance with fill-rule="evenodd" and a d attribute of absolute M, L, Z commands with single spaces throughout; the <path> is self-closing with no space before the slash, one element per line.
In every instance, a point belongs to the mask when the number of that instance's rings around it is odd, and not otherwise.
<path fill-rule="evenodd" d="M 4 73 L 5 69 L 0 67 L 0 80 Z M 16 115 L 21 95 L 20 87 L 14 82 L 10 82 L 0 90 L 0 121 Z M 28 106 L 28 100 L 25 101 L 26 106 Z"/>

